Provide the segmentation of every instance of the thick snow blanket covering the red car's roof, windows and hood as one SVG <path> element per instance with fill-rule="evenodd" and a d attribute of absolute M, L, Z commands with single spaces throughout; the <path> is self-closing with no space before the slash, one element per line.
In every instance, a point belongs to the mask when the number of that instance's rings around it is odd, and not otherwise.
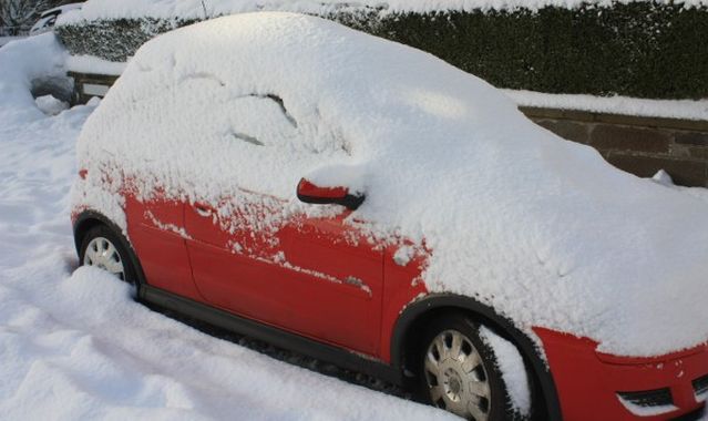
<path fill-rule="evenodd" d="M 476 297 L 530 335 L 632 356 L 708 339 L 704 202 L 612 167 L 428 53 L 319 18 L 248 13 L 156 38 L 78 150 L 76 203 L 103 171 L 144 194 L 245 188 L 319 209 L 295 198 L 309 174 L 363 189 L 351 219 L 373 236 L 424 240 L 429 290 Z"/>

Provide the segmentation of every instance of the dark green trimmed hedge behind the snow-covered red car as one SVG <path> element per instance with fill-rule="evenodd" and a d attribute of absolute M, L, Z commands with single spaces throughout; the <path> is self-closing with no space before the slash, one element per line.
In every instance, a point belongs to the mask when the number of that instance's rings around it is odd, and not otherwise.
<path fill-rule="evenodd" d="M 536 11 L 382 13 L 325 18 L 428 51 L 499 88 L 653 99 L 708 97 L 708 8 L 664 2 Z M 72 54 L 124 61 L 157 33 L 194 21 L 62 25 Z"/>

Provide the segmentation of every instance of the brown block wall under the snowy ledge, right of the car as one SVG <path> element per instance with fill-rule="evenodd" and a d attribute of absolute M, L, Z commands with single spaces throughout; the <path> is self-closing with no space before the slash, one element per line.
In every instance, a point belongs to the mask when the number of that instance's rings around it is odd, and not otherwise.
<path fill-rule="evenodd" d="M 640 177 L 665 170 L 676 184 L 708 187 L 708 121 L 536 107 L 521 111 L 561 137 L 595 147 L 620 170 Z"/>

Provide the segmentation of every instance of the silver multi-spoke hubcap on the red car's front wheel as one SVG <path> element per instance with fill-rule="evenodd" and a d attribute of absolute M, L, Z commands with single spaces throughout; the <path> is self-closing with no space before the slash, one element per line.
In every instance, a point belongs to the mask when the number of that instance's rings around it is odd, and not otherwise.
<path fill-rule="evenodd" d="M 432 402 L 466 419 L 485 421 L 491 410 L 491 389 L 482 357 L 470 339 L 445 330 L 425 352 L 425 381 Z"/>

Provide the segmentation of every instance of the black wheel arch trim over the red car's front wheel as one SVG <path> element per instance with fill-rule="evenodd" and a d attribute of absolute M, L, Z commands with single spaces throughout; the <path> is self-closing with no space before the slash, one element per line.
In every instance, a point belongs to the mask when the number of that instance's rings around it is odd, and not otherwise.
<path fill-rule="evenodd" d="M 519 330 L 510 319 L 497 315 L 491 307 L 471 297 L 454 294 L 430 294 L 409 305 L 393 328 L 391 340 L 391 363 L 393 367 L 398 367 L 401 371 L 406 370 L 407 360 L 410 360 L 411 353 L 417 352 L 415 340 L 422 330 L 420 327 L 447 312 L 464 312 L 490 326 L 511 341 L 522 353 L 530 366 L 531 374 L 534 376 L 536 384 L 538 384 L 537 393 L 540 398 L 542 397 L 544 404 L 543 418 L 562 419 L 553 376 L 546 362 L 538 355 L 534 341 Z"/>

